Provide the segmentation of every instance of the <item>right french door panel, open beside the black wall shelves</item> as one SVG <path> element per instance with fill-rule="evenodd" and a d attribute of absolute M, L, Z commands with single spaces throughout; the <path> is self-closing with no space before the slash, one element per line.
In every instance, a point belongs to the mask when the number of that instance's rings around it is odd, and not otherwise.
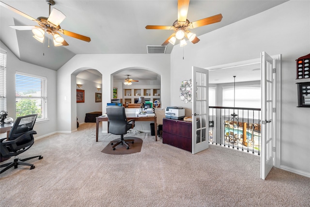
<path fill-rule="evenodd" d="M 276 126 L 276 64 L 267 53 L 261 52 L 262 82 L 262 155 L 261 178 L 265 179 L 274 166 Z"/>

